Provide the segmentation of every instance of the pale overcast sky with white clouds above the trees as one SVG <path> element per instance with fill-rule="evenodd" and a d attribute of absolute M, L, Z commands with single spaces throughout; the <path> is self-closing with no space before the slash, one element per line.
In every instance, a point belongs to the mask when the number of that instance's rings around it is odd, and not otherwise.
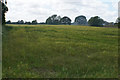
<path fill-rule="evenodd" d="M 7 0 L 9 11 L 6 20 L 45 22 L 57 14 L 68 16 L 74 21 L 75 17 L 84 15 L 89 19 L 100 16 L 106 21 L 115 22 L 118 16 L 119 0 Z"/>

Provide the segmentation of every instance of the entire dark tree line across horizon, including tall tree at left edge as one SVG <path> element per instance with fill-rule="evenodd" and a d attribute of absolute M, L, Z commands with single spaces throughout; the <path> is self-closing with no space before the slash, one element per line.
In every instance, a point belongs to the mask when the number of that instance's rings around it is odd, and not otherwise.
<path fill-rule="evenodd" d="M 24 22 L 24 20 L 18 20 L 17 22 L 11 22 L 9 21 L 5 21 L 5 13 L 8 11 L 8 7 L 5 5 L 5 3 L 2 3 L 2 24 L 4 25 L 5 23 L 7 24 L 49 24 L 49 25 L 89 25 L 89 26 L 110 26 L 110 25 L 118 25 L 118 23 L 120 23 L 120 18 L 118 18 L 117 23 L 113 23 L 113 22 L 107 22 L 104 21 L 102 18 L 100 18 L 99 16 L 94 16 L 91 17 L 88 21 L 87 18 L 83 15 L 81 16 L 77 16 L 74 20 L 74 22 L 72 23 L 72 20 L 67 17 L 61 17 L 61 16 L 57 16 L 56 14 L 48 17 L 46 19 L 46 22 L 42 22 L 42 23 L 38 23 L 37 20 L 33 20 L 32 22 Z"/>

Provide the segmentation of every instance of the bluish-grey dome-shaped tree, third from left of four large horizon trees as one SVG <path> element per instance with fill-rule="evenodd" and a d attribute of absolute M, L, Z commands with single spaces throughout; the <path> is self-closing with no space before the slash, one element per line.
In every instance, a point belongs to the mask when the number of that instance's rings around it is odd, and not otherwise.
<path fill-rule="evenodd" d="M 85 16 L 78 16 L 74 21 L 75 25 L 87 25 L 87 19 Z"/>

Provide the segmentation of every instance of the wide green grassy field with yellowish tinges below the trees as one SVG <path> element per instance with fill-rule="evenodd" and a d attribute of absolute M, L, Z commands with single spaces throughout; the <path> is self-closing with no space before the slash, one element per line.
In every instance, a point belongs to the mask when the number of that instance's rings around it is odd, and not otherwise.
<path fill-rule="evenodd" d="M 3 34 L 3 77 L 117 78 L 118 29 L 9 25 Z"/>

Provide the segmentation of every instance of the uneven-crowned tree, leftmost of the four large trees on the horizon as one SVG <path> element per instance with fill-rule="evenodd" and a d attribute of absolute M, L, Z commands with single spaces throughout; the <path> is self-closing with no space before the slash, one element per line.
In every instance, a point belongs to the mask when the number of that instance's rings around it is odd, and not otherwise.
<path fill-rule="evenodd" d="M 54 25 L 60 24 L 60 19 L 61 19 L 60 16 L 57 16 L 56 14 L 52 15 L 46 20 L 46 24 L 54 24 Z"/>

